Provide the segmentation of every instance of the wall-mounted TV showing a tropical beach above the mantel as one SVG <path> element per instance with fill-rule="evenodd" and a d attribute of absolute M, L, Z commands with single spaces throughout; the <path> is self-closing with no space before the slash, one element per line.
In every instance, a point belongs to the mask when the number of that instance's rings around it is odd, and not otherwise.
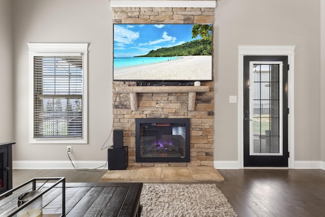
<path fill-rule="evenodd" d="M 114 24 L 114 80 L 212 80 L 212 24 Z"/>

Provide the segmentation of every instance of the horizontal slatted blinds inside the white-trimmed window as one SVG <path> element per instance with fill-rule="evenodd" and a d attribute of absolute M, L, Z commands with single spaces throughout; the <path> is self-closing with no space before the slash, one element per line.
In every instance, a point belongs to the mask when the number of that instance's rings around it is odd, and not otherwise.
<path fill-rule="evenodd" d="M 83 136 L 82 55 L 34 56 L 34 138 Z"/>

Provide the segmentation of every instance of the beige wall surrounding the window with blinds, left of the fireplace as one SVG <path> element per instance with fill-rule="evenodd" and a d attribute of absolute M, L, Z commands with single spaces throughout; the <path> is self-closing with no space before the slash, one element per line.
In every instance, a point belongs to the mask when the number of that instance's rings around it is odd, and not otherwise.
<path fill-rule="evenodd" d="M 89 43 L 88 142 L 74 144 L 76 161 L 104 161 L 112 126 L 112 18 L 108 0 L 15 0 L 14 161 L 68 161 L 66 144 L 28 143 L 27 43 Z M 100 165 L 98 165 L 100 166 Z"/>

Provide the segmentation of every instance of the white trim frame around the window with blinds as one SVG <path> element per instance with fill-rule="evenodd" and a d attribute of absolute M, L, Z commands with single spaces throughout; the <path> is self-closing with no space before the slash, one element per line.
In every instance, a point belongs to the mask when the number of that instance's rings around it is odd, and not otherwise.
<path fill-rule="evenodd" d="M 27 43 L 29 55 L 29 143 L 32 144 L 86 144 L 88 142 L 88 99 L 87 99 L 87 43 Z M 81 53 L 83 61 L 82 138 L 34 138 L 34 56 Z"/>

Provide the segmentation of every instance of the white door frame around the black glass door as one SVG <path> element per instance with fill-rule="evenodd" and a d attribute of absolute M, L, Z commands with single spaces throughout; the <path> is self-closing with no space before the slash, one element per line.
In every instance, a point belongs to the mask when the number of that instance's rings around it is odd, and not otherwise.
<path fill-rule="evenodd" d="M 258 45 L 239 45 L 238 46 L 238 166 L 244 168 L 244 148 L 243 148 L 243 74 L 244 56 L 288 56 L 288 167 L 294 168 L 295 160 L 295 45 L 290 46 L 258 46 Z"/>

